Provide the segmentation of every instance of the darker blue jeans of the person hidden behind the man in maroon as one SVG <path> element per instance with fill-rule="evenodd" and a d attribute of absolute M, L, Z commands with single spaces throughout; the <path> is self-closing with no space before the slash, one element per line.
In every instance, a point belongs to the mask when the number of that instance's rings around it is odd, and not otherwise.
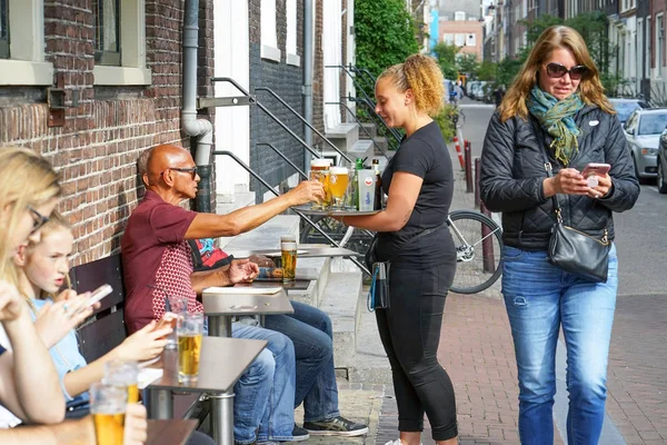
<path fill-rule="evenodd" d="M 338 417 L 331 319 L 320 309 L 291 301 L 295 313 L 267 315 L 265 327 L 288 336 L 297 357 L 295 407 L 303 403 L 303 421 Z"/>

